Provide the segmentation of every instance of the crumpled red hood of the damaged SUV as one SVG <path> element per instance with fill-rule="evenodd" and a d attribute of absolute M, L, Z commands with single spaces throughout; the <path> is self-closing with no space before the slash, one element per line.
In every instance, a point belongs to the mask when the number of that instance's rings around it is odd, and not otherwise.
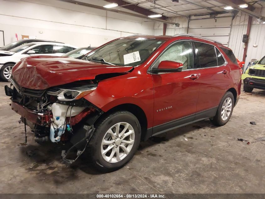
<path fill-rule="evenodd" d="M 132 66 L 113 66 L 70 57 L 32 56 L 19 61 L 12 70 L 13 78 L 25 88 L 47 89 L 77 80 L 92 80 L 105 73 L 124 73 Z"/>

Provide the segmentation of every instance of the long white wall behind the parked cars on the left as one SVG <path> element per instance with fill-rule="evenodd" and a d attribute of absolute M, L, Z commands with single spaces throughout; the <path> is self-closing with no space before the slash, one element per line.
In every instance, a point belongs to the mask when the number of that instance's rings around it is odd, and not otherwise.
<path fill-rule="evenodd" d="M 103 0 L 85 2 L 106 4 Z M 77 47 L 99 46 L 121 36 L 153 34 L 153 29 L 153 21 L 62 1 L 0 0 L 0 30 L 6 44 L 15 41 L 17 33 L 19 39 L 29 35 Z"/>

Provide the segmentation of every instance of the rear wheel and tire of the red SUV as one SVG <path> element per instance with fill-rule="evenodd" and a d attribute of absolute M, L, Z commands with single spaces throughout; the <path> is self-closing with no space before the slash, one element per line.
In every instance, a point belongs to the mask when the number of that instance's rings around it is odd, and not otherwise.
<path fill-rule="evenodd" d="M 211 122 L 215 126 L 225 125 L 231 118 L 234 109 L 234 103 L 235 100 L 233 94 L 230 91 L 227 91 L 222 97 L 220 104 L 217 108 L 215 117 L 211 120 Z"/>

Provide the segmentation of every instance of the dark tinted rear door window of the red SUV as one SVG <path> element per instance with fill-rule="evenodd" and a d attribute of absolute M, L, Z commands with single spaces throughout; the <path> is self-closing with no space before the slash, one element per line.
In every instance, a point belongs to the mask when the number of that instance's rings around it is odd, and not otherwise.
<path fill-rule="evenodd" d="M 215 47 L 201 42 L 194 42 L 196 53 L 196 68 L 207 68 L 218 66 Z"/>

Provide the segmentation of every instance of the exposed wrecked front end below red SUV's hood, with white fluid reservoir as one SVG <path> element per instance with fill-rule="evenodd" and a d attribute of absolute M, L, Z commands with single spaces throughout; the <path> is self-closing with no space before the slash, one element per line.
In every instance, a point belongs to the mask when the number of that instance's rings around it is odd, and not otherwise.
<path fill-rule="evenodd" d="M 30 106 L 30 100 L 25 102 L 24 94 L 18 92 L 16 88 L 18 88 L 18 85 L 13 87 L 13 89 L 12 86 L 5 86 L 5 93 L 11 97 L 11 109 L 21 115 L 21 121 L 24 125 L 28 125 L 34 132 L 35 141 L 71 142 L 73 146 L 67 152 L 62 151 L 61 156 L 68 163 L 73 163 L 77 160 L 85 151 L 93 135 L 95 130 L 94 122 L 103 112 L 90 102 L 80 105 L 77 102 L 69 104 L 58 101 L 50 102 L 51 110 L 36 111 Z M 36 97 L 32 99 L 34 98 Z M 82 100 L 85 101 L 84 99 Z M 74 104 L 77 106 L 74 106 Z M 27 137 L 27 135 L 25 136 Z M 76 158 L 67 158 L 69 152 L 73 150 L 77 150 Z"/>

